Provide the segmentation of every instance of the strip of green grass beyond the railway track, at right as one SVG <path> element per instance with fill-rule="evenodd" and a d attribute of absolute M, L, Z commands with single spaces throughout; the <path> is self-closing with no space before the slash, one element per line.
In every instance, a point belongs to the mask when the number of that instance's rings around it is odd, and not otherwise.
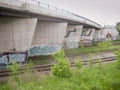
<path fill-rule="evenodd" d="M 120 46 L 114 46 L 112 42 L 99 42 L 97 46 L 81 47 L 76 49 L 65 50 L 66 55 L 93 53 L 110 50 L 119 50 Z"/>

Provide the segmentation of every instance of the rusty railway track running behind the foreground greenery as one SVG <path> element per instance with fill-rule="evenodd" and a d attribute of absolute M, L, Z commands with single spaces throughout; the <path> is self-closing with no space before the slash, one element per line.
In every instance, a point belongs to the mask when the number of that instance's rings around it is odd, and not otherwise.
<path fill-rule="evenodd" d="M 105 58 L 100 58 L 102 61 L 101 62 L 112 62 L 112 61 L 116 61 L 117 59 L 115 57 L 105 57 Z M 98 63 L 99 59 L 93 59 L 92 63 L 96 64 Z M 89 60 L 83 60 L 83 65 L 88 65 Z M 32 71 L 38 71 L 38 72 L 42 72 L 42 71 L 49 71 L 51 69 L 51 67 L 53 66 L 53 64 L 47 64 L 47 65 L 36 65 L 33 68 L 31 68 Z M 74 67 L 75 63 L 71 62 L 71 67 Z M 21 69 L 19 69 L 19 73 L 24 73 L 25 70 L 25 66 L 22 67 Z M 11 75 L 10 70 L 8 69 L 1 69 L 0 70 L 0 78 L 2 77 L 8 77 Z"/>

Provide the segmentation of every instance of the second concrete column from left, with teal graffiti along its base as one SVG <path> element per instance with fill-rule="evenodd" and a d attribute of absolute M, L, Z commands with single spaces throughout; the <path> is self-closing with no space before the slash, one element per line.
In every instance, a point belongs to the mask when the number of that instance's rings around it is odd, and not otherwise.
<path fill-rule="evenodd" d="M 38 21 L 30 56 L 49 55 L 62 48 L 67 23 Z"/>

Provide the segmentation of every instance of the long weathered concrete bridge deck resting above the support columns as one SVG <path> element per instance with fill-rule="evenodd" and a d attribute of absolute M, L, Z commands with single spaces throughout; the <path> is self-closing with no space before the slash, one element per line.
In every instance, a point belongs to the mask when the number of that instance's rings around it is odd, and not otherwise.
<path fill-rule="evenodd" d="M 21 2 L 23 1 L 23 2 Z M 32 3 L 30 2 L 32 1 Z M 84 27 L 101 28 L 101 25 L 66 10 L 43 4 L 34 0 L 1 0 L 0 14 L 20 17 L 34 17 L 54 21 L 66 21 L 70 24 L 83 24 Z M 5 8 L 5 9 L 4 9 Z M 7 10 L 7 12 L 5 12 Z M 9 12 L 8 12 L 9 11 Z M 19 15 L 18 15 L 19 13 Z"/>

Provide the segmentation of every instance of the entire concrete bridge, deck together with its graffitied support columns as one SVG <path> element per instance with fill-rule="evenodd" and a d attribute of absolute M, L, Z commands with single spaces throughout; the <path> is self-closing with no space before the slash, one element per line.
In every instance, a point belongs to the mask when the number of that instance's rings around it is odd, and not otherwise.
<path fill-rule="evenodd" d="M 0 0 L 0 52 L 25 51 L 47 55 L 64 43 L 77 48 L 83 29 L 101 25 L 66 10 L 37 0 Z"/>

